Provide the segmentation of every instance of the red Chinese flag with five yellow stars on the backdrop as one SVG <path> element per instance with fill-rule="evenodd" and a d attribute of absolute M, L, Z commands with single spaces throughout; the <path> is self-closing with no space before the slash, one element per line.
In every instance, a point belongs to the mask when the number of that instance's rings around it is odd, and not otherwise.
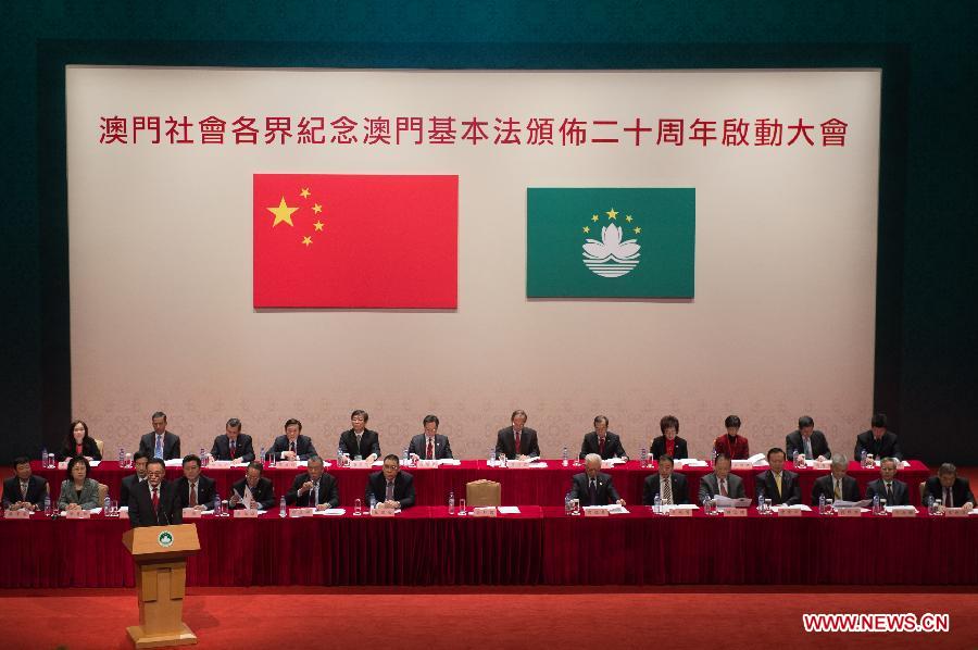
<path fill-rule="evenodd" d="M 254 175 L 255 308 L 457 307 L 457 176 Z"/>

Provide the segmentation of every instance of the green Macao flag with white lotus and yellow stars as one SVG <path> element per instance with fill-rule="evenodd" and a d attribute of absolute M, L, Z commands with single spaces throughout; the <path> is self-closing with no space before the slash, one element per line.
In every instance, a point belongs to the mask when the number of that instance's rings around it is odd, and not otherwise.
<path fill-rule="evenodd" d="M 692 298 L 693 188 L 527 189 L 528 298 Z"/>

